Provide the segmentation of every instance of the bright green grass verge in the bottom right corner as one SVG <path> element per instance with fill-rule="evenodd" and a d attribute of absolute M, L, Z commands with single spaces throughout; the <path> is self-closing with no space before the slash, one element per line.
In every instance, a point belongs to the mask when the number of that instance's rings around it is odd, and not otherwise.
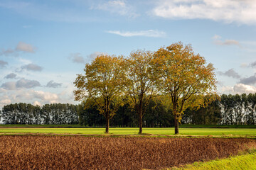
<path fill-rule="evenodd" d="M 256 169 L 256 152 L 229 157 L 227 159 L 216 159 L 210 162 L 195 162 L 180 168 L 171 168 L 169 170 L 252 170 Z"/>

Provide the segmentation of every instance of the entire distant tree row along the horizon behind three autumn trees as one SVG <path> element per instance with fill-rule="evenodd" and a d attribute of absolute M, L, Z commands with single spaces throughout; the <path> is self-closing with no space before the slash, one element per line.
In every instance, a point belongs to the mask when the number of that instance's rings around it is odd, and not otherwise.
<path fill-rule="evenodd" d="M 146 107 L 144 127 L 174 126 L 169 102 L 164 96 L 152 99 Z M 29 103 L 15 103 L 4 106 L 1 120 L 5 124 L 80 124 L 89 127 L 104 127 L 105 118 L 97 105 L 53 103 L 33 106 Z M 256 94 L 235 94 L 220 96 L 220 101 L 210 103 L 206 108 L 184 111 L 182 124 L 197 125 L 255 125 Z M 137 114 L 127 101 L 110 120 L 112 127 L 138 127 Z"/>

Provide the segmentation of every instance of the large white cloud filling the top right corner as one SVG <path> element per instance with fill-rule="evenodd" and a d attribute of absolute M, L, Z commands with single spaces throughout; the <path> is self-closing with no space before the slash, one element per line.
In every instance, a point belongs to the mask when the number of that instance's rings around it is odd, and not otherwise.
<path fill-rule="evenodd" d="M 171 19 L 210 19 L 226 23 L 256 23 L 255 0 L 162 0 L 153 9 L 155 16 Z"/>

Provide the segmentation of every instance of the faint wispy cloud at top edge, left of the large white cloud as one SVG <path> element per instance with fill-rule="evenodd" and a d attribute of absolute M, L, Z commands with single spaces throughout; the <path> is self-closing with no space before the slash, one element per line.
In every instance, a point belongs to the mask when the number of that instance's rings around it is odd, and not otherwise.
<path fill-rule="evenodd" d="M 132 6 L 129 6 L 126 1 L 123 0 L 115 0 L 115 1 L 107 1 L 102 4 L 97 4 L 96 6 L 92 6 L 91 9 L 99 9 L 102 11 L 108 11 L 110 13 L 118 13 L 121 16 L 129 16 L 129 17 L 137 17 L 139 16 L 134 12 Z"/>

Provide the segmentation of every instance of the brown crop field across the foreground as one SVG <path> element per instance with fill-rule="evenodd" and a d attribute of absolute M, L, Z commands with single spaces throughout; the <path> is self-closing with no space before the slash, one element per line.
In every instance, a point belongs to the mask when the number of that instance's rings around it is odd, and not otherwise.
<path fill-rule="evenodd" d="M 0 169 L 160 169 L 228 157 L 256 140 L 0 136 Z"/>

